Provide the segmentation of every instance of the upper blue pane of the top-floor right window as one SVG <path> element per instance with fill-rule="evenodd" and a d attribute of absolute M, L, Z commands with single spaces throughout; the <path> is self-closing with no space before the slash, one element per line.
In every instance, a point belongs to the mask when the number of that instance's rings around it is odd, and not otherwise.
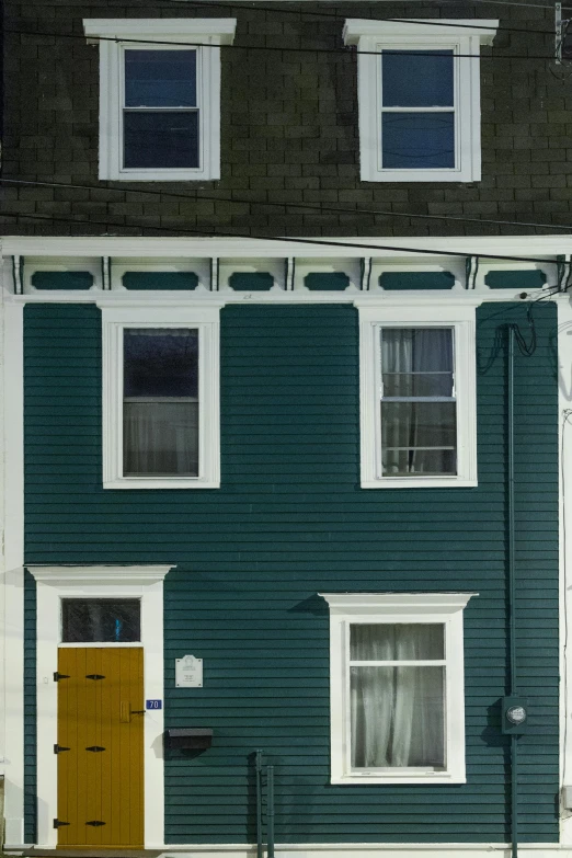
<path fill-rule="evenodd" d="M 453 50 L 384 50 L 384 107 L 453 107 Z"/>

